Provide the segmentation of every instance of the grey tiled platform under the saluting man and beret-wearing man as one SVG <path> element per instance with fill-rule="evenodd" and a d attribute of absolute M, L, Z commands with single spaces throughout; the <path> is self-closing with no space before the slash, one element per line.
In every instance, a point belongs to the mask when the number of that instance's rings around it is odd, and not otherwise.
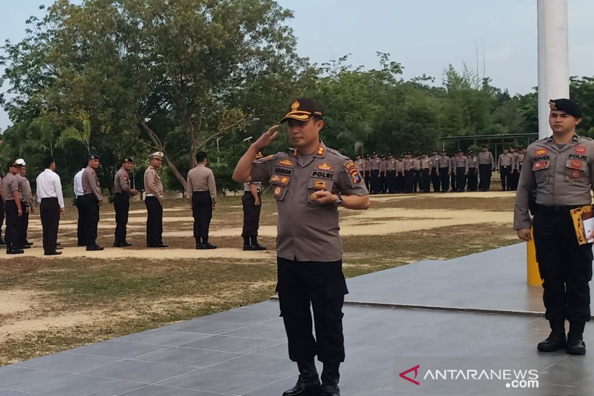
<path fill-rule="evenodd" d="M 525 284 L 524 252 L 350 279 L 342 395 L 594 395 L 594 351 L 536 351 L 549 330 L 541 288 Z M 280 396 L 296 365 L 278 314 L 270 300 L 0 368 L 0 396 Z M 592 326 L 584 338 L 594 340 Z M 416 366 L 416 378 L 403 376 L 419 385 L 399 376 Z M 515 387 L 531 374 L 538 388 Z"/>

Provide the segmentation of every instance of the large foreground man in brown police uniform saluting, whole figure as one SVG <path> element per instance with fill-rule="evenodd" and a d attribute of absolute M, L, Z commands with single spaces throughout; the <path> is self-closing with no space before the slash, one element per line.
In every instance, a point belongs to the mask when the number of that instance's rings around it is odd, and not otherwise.
<path fill-rule="evenodd" d="M 296 100 L 281 121 L 289 122 L 295 150 L 252 164 L 255 153 L 276 138 L 279 126 L 273 126 L 249 147 L 233 173 L 236 182 L 268 181 L 278 206 L 277 290 L 289 357 L 299 368 L 297 384 L 283 396 L 340 395 L 339 365 L 345 360 L 342 306 L 347 289 L 338 209 L 369 207 L 355 163 L 320 140 L 322 116 L 313 100 Z M 316 354 L 324 363 L 321 387 Z"/>

